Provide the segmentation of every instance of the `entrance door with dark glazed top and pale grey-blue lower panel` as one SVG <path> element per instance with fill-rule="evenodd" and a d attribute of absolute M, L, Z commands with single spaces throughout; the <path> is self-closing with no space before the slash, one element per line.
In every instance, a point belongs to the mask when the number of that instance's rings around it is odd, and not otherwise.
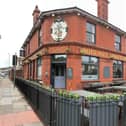
<path fill-rule="evenodd" d="M 54 88 L 65 88 L 65 73 L 66 68 L 64 64 L 55 64 Z"/>

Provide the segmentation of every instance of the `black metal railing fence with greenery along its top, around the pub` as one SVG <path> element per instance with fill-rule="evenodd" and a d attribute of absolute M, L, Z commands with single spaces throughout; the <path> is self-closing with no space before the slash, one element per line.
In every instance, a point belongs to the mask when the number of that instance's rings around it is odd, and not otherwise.
<path fill-rule="evenodd" d="M 25 95 L 48 126 L 126 126 L 126 98 L 86 99 L 56 92 L 36 82 L 16 78 Z"/>

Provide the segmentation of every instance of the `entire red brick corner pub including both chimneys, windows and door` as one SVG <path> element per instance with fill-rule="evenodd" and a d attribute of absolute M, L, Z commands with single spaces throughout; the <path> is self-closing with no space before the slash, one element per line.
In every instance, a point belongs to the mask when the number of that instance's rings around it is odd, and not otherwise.
<path fill-rule="evenodd" d="M 108 22 L 108 4 L 97 0 L 98 16 L 77 7 L 40 13 L 36 6 L 22 45 L 24 78 L 67 90 L 126 80 L 126 33 Z"/>

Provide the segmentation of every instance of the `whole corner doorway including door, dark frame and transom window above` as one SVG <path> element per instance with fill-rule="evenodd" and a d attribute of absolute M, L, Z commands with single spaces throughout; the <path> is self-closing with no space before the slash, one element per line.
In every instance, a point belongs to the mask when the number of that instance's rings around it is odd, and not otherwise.
<path fill-rule="evenodd" d="M 53 88 L 66 88 L 66 55 L 53 55 L 51 62 Z"/>

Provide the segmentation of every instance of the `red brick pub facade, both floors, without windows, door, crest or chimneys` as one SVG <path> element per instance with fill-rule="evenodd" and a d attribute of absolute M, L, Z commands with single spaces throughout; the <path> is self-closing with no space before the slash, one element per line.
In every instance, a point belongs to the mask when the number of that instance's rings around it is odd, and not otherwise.
<path fill-rule="evenodd" d="M 51 36 L 51 26 L 57 16 L 67 23 L 68 31 L 66 37 L 56 42 Z M 41 18 L 42 17 L 42 18 Z M 87 82 L 110 82 L 113 81 L 113 60 L 123 63 L 123 76 L 126 79 L 126 37 L 125 32 L 109 24 L 107 21 L 92 16 L 78 8 L 68 8 L 43 12 L 34 25 L 31 33 L 23 44 L 25 49 L 24 78 L 37 80 L 37 58 L 41 56 L 41 80 L 47 85 L 51 85 L 53 55 L 66 55 L 65 62 L 65 88 L 68 90 L 81 89 Z M 86 39 L 86 23 L 95 25 L 96 43 L 88 43 Z M 38 45 L 39 30 L 41 29 L 42 45 Z M 121 36 L 121 50 L 115 49 L 115 34 Z M 99 60 L 98 79 L 82 79 L 82 56 L 94 56 Z M 32 70 L 29 64 L 32 64 Z M 104 69 L 109 68 L 109 77 L 105 77 Z M 68 68 L 72 69 L 72 78 L 67 75 Z M 31 74 L 30 74 L 31 71 Z M 31 76 L 31 78 L 30 78 Z M 54 86 L 54 85 L 53 85 Z"/>

